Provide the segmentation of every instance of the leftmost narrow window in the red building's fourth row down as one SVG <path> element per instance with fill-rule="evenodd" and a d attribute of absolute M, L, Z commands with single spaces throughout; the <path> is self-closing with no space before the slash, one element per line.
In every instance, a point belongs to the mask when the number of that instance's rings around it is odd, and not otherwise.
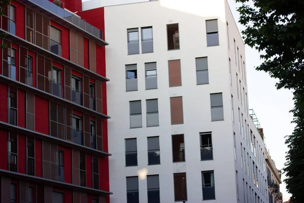
<path fill-rule="evenodd" d="M 17 133 L 12 131 L 9 132 L 9 171 L 17 172 L 17 156 L 18 156 L 18 141 L 17 141 Z"/>

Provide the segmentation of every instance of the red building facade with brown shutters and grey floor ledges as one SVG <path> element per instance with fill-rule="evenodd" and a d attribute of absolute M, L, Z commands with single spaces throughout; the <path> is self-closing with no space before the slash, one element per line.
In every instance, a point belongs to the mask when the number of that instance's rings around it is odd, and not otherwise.
<path fill-rule="evenodd" d="M 1 16 L 1 202 L 109 202 L 104 21 L 57 5 Z"/>

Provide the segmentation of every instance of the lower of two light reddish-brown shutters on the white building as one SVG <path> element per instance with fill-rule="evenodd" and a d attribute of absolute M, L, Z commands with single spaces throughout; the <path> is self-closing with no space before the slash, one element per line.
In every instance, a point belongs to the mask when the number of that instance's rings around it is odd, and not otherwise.
<path fill-rule="evenodd" d="M 171 124 L 183 123 L 182 97 L 170 97 Z"/>

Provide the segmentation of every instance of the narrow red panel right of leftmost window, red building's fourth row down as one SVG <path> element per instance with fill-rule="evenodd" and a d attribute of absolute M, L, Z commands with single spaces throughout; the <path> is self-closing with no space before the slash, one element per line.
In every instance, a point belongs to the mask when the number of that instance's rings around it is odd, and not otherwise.
<path fill-rule="evenodd" d="M 26 174 L 26 137 L 18 134 L 18 173 Z"/>

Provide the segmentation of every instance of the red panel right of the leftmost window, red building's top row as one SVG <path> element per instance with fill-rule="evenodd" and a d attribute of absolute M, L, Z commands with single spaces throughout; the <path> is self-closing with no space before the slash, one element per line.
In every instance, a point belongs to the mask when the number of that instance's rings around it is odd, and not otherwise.
<path fill-rule="evenodd" d="M 16 36 L 25 39 L 25 7 L 16 1 L 12 1 L 11 4 L 16 7 Z"/>

